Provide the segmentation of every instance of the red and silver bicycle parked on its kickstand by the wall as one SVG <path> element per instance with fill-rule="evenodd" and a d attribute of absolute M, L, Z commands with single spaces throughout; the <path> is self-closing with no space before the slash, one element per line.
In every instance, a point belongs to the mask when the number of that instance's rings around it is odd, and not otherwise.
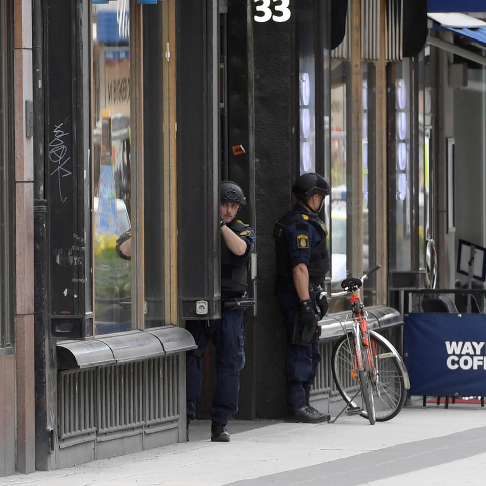
<path fill-rule="evenodd" d="M 360 287 L 380 265 L 361 278 L 350 277 L 341 282 L 342 292 L 331 297 L 350 294 L 351 314 L 346 316 L 344 336 L 333 347 L 331 368 L 333 379 L 346 406 L 348 415 L 359 413 L 370 424 L 395 417 L 403 407 L 410 388 L 409 377 L 401 356 L 382 335 L 368 329 L 368 314 L 361 299 Z M 357 383 L 359 387 L 352 395 Z M 361 404 L 355 401 L 361 393 Z"/>

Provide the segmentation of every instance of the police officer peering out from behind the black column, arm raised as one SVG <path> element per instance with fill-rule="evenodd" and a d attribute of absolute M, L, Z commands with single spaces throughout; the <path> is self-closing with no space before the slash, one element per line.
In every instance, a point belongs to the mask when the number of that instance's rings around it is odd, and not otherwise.
<path fill-rule="evenodd" d="M 235 219 L 244 204 L 245 196 L 238 184 L 221 182 L 221 318 L 186 322 L 186 329 L 197 344 L 197 349 L 186 356 L 188 426 L 195 418 L 196 400 L 201 394 L 201 362 L 209 339 L 215 347 L 216 390 L 210 409 L 213 442 L 230 440 L 226 424 L 238 411 L 239 372 L 245 364 L 242 307 L 251 304 L 245 296 L 255 232 Z"/>

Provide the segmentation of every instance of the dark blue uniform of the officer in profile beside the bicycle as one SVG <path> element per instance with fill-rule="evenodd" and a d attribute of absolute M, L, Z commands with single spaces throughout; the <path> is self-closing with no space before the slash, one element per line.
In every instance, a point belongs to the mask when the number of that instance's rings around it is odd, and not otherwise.
<path fill-rule="evenodd" d="M 300 301 L 294 287 L 292 269 L 299 263 L 305 263 L 309 270 L 309 284 L 322 285 L 329 270 L 329 254 L 322 222 L 305 207 L 296 204 L 279 223 L 281 234 L 276 237 L 276 296 L 284 314 L 287 334 L 287 404 L 301 407 L 309 404 L 310 387 L 321 355 L 317 340 L 310 345 L 293 344 L 294 320 Z"/>

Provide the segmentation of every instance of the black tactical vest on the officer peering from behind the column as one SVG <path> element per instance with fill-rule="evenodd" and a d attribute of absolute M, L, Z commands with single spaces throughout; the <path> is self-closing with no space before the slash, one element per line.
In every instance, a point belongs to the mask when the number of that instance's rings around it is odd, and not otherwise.
<path fill-rule="evenodd" d="M 241 233 L 248 224 L 233 220 L 228 228 L 236 234 Z M 221 295 L 241 297 L 247 290 L 247 271 L 249 260 L 235 255 L 221 237 Z"/>

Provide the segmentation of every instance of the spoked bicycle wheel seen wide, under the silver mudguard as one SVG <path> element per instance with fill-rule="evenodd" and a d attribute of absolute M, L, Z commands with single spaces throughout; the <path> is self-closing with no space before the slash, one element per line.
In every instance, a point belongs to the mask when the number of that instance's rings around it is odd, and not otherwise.
<path fill-rule="evenodd" d="M 407 390 L 397 359 L 391 349 L 373 336 L 370 339 L 371 349 L 375 350 L 374 359 L 378 377 L 377 384 L 372 387 L 375 416 L 378 422 L 384 422 L 392 419 L 400 412 L 407 398 Z M 354 344 L 351 333 L 349 333 L 349 336 L 341 337 L 334 345 L 331 369 L 334 382 L 343 399 L 352 407 L 357 407 L 358 404 L 351 400 L 358 385 L 357 373 L 352 371 L 354 369 Z M 355 376 L 353 376 L 353 373 Z M 365 411 L 361 415 L 367 417 Z"/>

